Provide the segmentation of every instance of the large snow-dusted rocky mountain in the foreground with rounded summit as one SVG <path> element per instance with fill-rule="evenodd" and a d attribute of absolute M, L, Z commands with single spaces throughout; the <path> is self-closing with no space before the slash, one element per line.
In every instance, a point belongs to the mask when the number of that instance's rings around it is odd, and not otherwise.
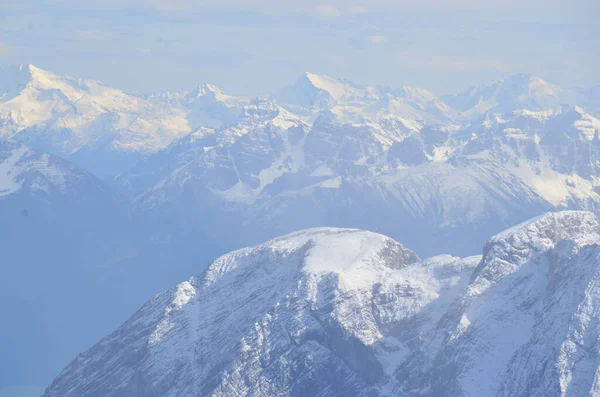
<path fill-rule="evenodd" d="M 359 230 L 294 233 L 157 295 L 44 396 L 596 395 L 599 246 L 587 212 L 463 259 L 421 261 Z"/>

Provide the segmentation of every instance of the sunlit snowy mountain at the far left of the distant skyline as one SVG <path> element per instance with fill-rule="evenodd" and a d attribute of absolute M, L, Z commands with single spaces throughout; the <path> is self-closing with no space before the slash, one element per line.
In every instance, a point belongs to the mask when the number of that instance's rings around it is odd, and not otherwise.
<path fill-rule="evenodd" d="M 127 169 L 189 131 L 182 109 L 33 65 L 0 69 L 0 136 L 102 176 Z"/>

